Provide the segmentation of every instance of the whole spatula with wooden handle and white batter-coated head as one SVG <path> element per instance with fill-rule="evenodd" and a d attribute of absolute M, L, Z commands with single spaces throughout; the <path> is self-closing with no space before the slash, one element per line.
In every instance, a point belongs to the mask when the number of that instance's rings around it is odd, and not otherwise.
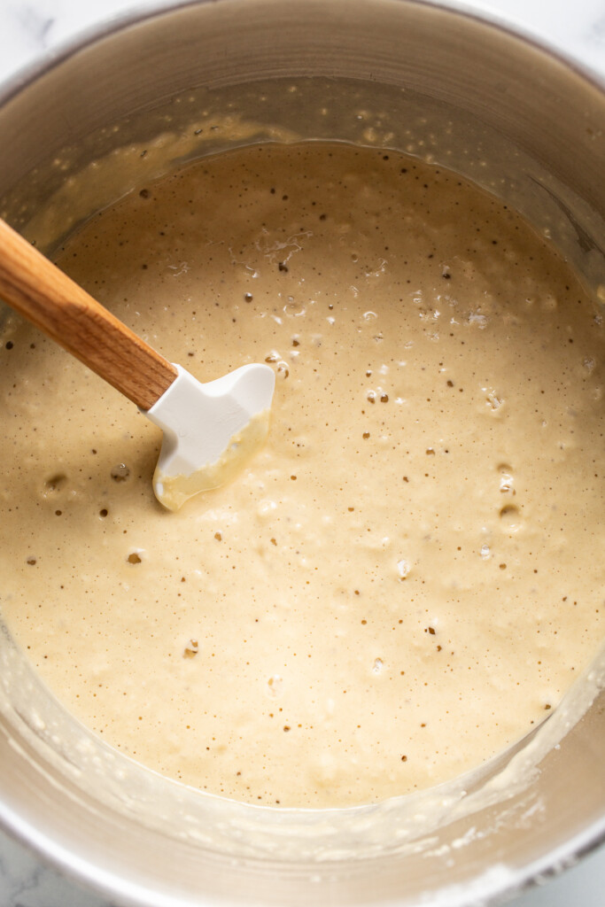
<path fill-rule="evenodd" d="M 268 433 L 269 366 L 201 384 L 175 366 L 0 220 L 0 297 L 113 385 L 163 432 L 153 491 L 175 511 L 227 482 Z"/>

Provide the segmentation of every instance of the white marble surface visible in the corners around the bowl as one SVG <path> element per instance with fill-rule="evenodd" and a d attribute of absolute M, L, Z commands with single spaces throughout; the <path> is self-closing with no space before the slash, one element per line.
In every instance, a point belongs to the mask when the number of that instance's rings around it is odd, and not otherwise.
<path fill-rule="evenodd" d="M 171 0 L 167 0 L 168 5 Z M 174 2 L 174 0 L 173 0 Z M 0 0 L 0 83 L 94 24 L 155 3 Z M 605 0 L 467 0 L 460 6 L 512 19 L 605 77 Z M 0 831 L 0 907 L 113 907 Z M 511 907 L 605 907 L 605 848 Z"/>

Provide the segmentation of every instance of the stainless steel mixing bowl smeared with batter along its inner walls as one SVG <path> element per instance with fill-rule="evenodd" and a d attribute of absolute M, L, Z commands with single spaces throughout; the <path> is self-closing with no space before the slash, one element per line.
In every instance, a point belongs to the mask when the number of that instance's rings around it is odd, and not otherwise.
<path fill-rule="evenodd" d="M 551 236 L 595 305 L 605 300 L 602 82 L 453 5 L 159 8 L 6 89 L 0 129 L 0 210 L 45 249 L 175 163 L 330 138 L 470 176 Z M 116 903 L 484 903 L 605 836 L 603 658 L 478 772 L 381 805 L 296 813 L 203 795 L 112 751 L 0 630 L 0 820 Z"/>

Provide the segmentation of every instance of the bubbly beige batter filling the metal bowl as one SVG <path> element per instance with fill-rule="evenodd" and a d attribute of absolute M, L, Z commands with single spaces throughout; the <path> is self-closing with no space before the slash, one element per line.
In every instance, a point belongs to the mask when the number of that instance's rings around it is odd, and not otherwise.
<path fill-rule="evenodd" d="M 2 616 L 162 773 L 376 801 L 548 715 L 598 648 L 604 331 L 511 210 L 393 151 L 264 146 L 102 212 L 60 265 L 202 381 L 268 362 L 268 442 L 170 513 L 161 437 L 2 338 Z"/>

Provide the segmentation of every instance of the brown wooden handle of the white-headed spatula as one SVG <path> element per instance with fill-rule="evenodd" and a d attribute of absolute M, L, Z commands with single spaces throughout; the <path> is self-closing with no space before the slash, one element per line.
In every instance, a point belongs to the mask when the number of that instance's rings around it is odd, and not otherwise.
<path fill-rule="evenodd" d="M 0 297 L 141 409 L 177 376 L 171 363 L 0 219 Z"/>

